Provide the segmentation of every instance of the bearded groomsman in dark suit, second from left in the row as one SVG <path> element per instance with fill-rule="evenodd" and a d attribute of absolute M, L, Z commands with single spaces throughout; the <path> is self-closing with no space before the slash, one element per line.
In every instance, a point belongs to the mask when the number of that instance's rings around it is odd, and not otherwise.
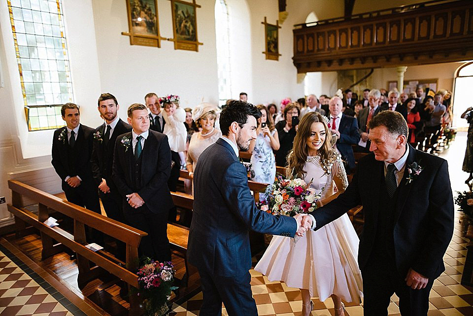
<path fill-rule="evenodd" d="M 120 105 L 113 95 L 101 94 L 98 104 L 100 115 L 105 122 L 94 131 L 94 149 L 91 158 L 92 175 L 99 188 L 99 197 L 107 216 L 125 223 L 122 198 L 112 179 L 113 150 L 118 135 L 130 132 L 132 127 L 118 117 Z M 121 259 L 124 259 L 125 244 L 118 240 L 116 242 L 118 254 Z"/>

